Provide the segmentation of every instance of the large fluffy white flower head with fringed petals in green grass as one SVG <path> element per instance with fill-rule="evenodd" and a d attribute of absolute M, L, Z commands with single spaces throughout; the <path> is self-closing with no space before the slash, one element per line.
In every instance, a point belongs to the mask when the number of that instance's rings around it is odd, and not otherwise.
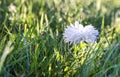
<path fill-rule="evenodd" d="M 94 43 L 98 38 L 99 32 L 92 25 L 87 25 L 83 27 L 79 22 L 71 24 L 65 28 L 63 33 L 63 38 L 65 42 L 70 42 L 70 44 L 78 44 L 80 42 L 87 42 L 88 44 Z"/>

